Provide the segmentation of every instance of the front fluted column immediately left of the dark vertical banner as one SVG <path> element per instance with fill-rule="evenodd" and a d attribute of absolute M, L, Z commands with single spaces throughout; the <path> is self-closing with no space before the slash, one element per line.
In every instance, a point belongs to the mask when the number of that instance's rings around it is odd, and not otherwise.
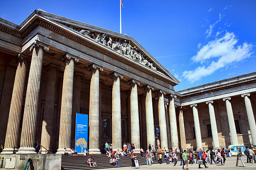
<path fill-rule="evenodd" d="M 154 87 L 146 85 L 146 128 L 147 128 L 147 146 L 155 145 L 155 133 L 154 133 L 154 118 L 153 118 L 153 105 L 152 105 L 152 94 L 151 90 L 154 90 Z"/>

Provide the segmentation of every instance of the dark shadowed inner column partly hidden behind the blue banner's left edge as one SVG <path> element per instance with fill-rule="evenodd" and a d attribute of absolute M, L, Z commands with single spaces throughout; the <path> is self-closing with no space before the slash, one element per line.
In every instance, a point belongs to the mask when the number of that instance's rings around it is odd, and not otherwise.
<path fill-rule="evenodd" d="M 73 81 L 73 98 L 72 98 L 72 133 L 71 133 L 71 148 L 75 147 L 76 136 L 76 114 L 80 113 L 80 97 L 81 97 L 81 78 L 82 73 L 74 73 Z"/>

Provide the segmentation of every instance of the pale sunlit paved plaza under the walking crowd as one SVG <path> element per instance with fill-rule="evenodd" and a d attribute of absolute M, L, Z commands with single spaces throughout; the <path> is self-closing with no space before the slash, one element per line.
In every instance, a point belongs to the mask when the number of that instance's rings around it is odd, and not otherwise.
<path fill-rule="evenodd" d="M 146 160 L 145 160 L 146 161 Z M 243 161 L 246 162 L 246 157 L 243 156 Z M 180 162 L 178 162 L 180 163 Z M 232 158 L 226 158 L 226 165 L 207 165 L 209 166 L 210 170 L 256 170 L 256 163 L 245 163 L 246 167 L 243 167 L 241 161 L 238 161 L 238 166 L 236 167 L 236 157 L 232 157 Z M 201 167 L 204 167 L 204 165 L 201 165 Z M 198 164 L 195 165 L 189 165 L 188 166 L 189 170 L 197 170 L 198 169 Z M 108 170 L 116 170 L 115 167 L 110 168 Z M 120 168 L 122 170 L 131 170 L 131 167 L 123 167 Z M 134 168 L 133 168 L 134 169 Z M 151 166 L 148 165 L 142 165 L 140 166 L 140 169 L 146 169 L 146 170 L 166 170 L 166 169 L 171 169 L 171 170 L 182 170 L 182 167 L 179 166 L 179 164 L 177 164 L 176 167 L 174 167 L 174 164 L 169 164 L 167 165 L 165 162 L 161 165 L 159 164 L 154 164 Z M 205 168 L 203 168 L 205 169 Z"/>

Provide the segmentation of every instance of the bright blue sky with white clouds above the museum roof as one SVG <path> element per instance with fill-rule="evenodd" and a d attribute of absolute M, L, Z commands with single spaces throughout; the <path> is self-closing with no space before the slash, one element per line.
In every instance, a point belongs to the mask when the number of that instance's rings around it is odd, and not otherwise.
<path fill-rule="evenodd" d="M 256 71 L 255 0 L 122 2 L 122 33 L 177 77 L 175 90 Z M 1 1 L 0 18 L 20 25 L 38 8 L 119 32 L 119 0 Z"/>

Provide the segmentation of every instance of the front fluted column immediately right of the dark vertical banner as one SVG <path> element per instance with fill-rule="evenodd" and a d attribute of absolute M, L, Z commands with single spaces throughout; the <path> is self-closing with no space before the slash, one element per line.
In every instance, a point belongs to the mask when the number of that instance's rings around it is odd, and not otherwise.
<path fill-rule="evenodd" d="M 165 108 L 164 108 L 164 95 L 163 90 L 158 92 L 158 117 L 159 117 L 159 126 L 160 126 L 160 138 L 161 138 L 161 148 L 166 148 L 168 150 L 167 142 L 167 128 L 166 128 L 166 117 L 165 117 Z"/>

